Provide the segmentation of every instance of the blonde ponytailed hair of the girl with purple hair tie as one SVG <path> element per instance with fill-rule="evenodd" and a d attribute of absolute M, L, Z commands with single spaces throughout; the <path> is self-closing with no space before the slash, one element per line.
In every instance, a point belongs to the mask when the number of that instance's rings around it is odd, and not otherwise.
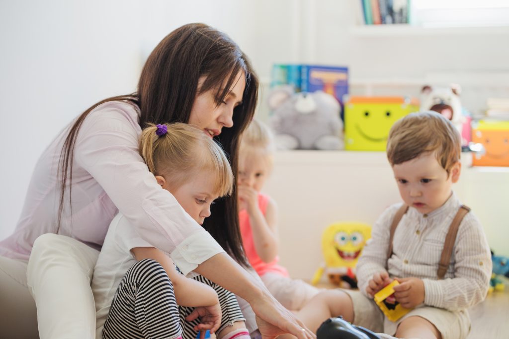
<path fill-rule="evenodd" d="M 156 134 L 158 127 L 148 124 L 139 139 L 139 154 L 154 175 L 162 175 L 170 186 L 180 187 L 202 171 L 211 171 L 214 193 L 232 193 L 233 173 L 224 152 L 211 137 L 188 124 L 164 124 L 167 133 Z"/>

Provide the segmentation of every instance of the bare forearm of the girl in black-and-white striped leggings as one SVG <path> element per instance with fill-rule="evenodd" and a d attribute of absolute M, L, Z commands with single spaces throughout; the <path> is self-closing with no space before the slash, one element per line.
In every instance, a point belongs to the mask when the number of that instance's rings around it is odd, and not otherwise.
<path fill-rule="evenodd" d="M 212 306 L 219 302 L 216 291 L 210 286 L 186 278 L 175 268 L 172 259 L 153 247 L 136 247 L 131 250 L 137 261 L 153 259 L 161 264 L 173 284 L 177 304 L 197 307 Z"/>

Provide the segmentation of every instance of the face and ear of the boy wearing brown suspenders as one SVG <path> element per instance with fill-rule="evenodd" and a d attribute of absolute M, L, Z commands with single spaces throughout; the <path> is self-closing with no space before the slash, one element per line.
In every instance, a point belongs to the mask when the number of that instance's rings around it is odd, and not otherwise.
<path fill-rule="evenodd" d="M 461 163 L 456 163 L 447 176 L 435 153 L 428 152 L 392 166 L 392 171 L 403 201 L 421 213 L 430 213 L 450 197 L 451 186 L 460 178 Z"/>

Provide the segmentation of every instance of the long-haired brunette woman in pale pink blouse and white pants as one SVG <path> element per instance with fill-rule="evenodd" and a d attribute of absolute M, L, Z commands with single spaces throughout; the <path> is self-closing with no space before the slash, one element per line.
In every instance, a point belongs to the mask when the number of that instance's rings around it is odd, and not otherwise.
<path fill-rule="evenodd" d="M 257 93 L 239 47 L 205 24 L 188 24 L 150 54 L 136 93 L 105 99 L 72 121 L 37 162 L 16 229 L 0 242 L 0 337 L 95 336 L 90 281 L 118 211 L 184 274 L 195 271 L 246 299 L 263 334 L 313 337 L 229 256 L 245 261 L 230 212 L 236 194 L 218 201 L 201 227 L 138 153 L 148 122 L 186 122 L 219 142 L 236 171 L 238 136 Z"/>

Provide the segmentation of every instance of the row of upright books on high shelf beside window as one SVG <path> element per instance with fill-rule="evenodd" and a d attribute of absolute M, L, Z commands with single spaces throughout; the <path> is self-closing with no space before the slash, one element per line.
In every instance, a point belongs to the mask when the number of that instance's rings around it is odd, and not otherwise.
<path fill-rule="evenodd" d="M 410 0 L 358 0 L 366 25 L 409 23 Z"/>

